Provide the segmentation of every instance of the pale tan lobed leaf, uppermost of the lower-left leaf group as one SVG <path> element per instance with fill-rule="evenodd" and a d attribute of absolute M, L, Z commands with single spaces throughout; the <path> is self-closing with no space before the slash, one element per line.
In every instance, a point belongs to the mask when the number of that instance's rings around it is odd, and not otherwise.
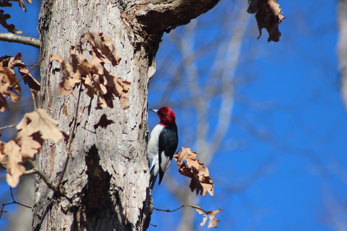
<path fill-rule="evenodd" d="M 19 131 L 16 139 L 22 139 L 25 136 L 40 132 L 41 139 L 51 139 L 56 143 L 60 143 L 62 137 L 66 134 L 58 129 L 57 124 L 58 121 L 50 117 L 44 109 L 38 108 L 33 112 L 26 113 L 22 121 L 16 126 Z"/>

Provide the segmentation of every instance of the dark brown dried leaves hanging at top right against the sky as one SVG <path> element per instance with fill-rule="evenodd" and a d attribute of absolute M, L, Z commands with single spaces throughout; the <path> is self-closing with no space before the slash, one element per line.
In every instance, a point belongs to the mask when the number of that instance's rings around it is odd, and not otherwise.
<path fill-rule="evenodd" d="M 260 38 L 263 28 L 266 28 L 269 33 L 268 42 L 278 42 L 280 40 L 281 32 L 278 29 L 278 25 L 282 22 L 283 17 L 282 10 L 279 8 L 276 2 L 277 0 L 250 0 L 247 12 L 249 14 L 255 14 L 259 28 Z"/>

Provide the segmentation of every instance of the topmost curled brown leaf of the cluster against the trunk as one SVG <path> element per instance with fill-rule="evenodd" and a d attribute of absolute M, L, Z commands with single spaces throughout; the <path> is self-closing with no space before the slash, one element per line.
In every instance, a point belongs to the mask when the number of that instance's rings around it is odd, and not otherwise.
<path fill-rule="evenodd" d="M 121 58 L 118 56 L 115 44 L 112 39 L 98 32 L 87 32 L 81 36 L 81 39 L 86 39 L 92 46 L 98 48 L 101 53 L 108 57 L 113 66 L 119 64 Z M 110 46 L 112 47 L 110 49 Z"/>

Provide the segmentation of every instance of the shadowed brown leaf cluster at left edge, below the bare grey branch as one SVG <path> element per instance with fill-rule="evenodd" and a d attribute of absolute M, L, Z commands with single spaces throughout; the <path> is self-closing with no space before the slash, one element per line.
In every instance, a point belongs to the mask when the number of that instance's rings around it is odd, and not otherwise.
<path fill-rule="evenodd" d="M 0 57 L 0 112 L 5 109 L 10 110 L 6 97 L 10 98 L 12 102 L 17 102 L 20 97 L 12 92 L 12 90 L 20 93 L 19 80 L 16 79 L 14 68 L 17 67 L 19 73 L 22 75 L 24 83 L 29 86 L 31 95 L 35 100 L 37 91 L 40 90 L 41 85 L 29 73 L 26 65 L 20 60 L 22 54 L 19 52 L 15 57 L 2 56 Z"/>

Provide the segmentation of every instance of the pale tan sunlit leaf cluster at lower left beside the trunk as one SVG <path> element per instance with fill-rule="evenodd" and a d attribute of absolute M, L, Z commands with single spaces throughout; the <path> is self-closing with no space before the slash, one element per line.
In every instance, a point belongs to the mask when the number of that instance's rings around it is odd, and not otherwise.
<path fill-rule="evenodd" d="M 45 110 L 39 108 L 24 115 L 16 126 L 18 134 L 14 140 L 7 143 L 0 141 L 0 164 L 6 164 L 6 180 L 11 187 L 17 186 L 19 177 L 25 171 L 21 162 L 33 159 L 44 140 L 51 139 L 60 143 L 63 136 L 68 139 L 68 135 L 60 131 L 57 124 Z"/>

